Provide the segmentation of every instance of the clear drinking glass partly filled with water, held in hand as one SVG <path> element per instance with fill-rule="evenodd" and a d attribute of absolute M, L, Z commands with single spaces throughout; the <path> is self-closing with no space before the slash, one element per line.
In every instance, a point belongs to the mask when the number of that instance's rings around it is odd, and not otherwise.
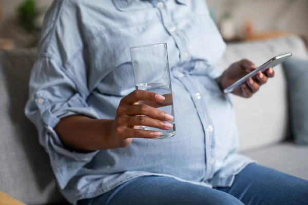
<path fill-rule="evenodd" d="M 131 47 L 130 55 L 136 90 L 155 92 L 165 97 L 160 103 L 139 101 L 138 104 L 146 104 L 175 116 L 167 44 Z M 162 132 L 160 137 L 152 139 L 169 138 L 176 134 L 176 125 L 175 119 L 167 122 L 173 125 L 169 130 L 161 130 L 146 126 L 141 126 L 140 129 Z"/>

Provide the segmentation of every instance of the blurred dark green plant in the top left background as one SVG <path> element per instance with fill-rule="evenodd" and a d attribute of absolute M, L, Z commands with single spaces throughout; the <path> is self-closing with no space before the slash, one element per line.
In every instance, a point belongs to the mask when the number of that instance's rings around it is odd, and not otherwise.
<path fill-rule="evenodd" d="M 26 0 L 18 9 L 18 21 L 29 32 L 35 31 L 38 28 L 35 26 L 35 19 L 40 14 L 36 7 L 35 0 Z"/>

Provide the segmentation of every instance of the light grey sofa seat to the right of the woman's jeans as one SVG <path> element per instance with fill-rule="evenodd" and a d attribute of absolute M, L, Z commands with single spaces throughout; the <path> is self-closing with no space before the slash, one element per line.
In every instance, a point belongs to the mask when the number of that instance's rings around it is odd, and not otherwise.
<path fill-rule="evenodd" d="M 308 147 L 284 142 L 263 149 L 245 151 L 261 165 L 308 180 Z"/>

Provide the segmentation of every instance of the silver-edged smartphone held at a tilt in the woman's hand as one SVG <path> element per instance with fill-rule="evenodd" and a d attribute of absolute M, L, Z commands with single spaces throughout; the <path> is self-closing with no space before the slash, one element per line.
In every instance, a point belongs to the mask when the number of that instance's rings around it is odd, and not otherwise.
<path fill-rule="evenodd" d="M 259 68 L 253 70 L 252 72 L 248 73 L 244 77 L 240 78 L 234 84 L 224 89 L 223 92 L 227 94 L 227 93 L 234 91 L 237 87 L 239 87 L 242 83 L 244 83 L 249 77 L 255 76 L 259 71 L 265 72 L 267 68 L 271 68 L 271 67 L 274 68 L 275 66 L 277 66 L 278 64 L 281 64 L 284 60 L 286 60 L 287 58 L 290 58 L 291 56 L 292 56 L 292 53 L 285 53 L 285 54 L 273 57 L 272 59 L 268 60 L 265 64 L 260 66 Z"/>

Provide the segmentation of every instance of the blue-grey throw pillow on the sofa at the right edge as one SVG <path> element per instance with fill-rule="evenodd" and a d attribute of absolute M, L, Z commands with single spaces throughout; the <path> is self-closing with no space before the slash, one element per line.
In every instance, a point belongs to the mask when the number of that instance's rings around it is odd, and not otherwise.
<path fill-rule="evenodd" d="M 308 60 L 291 58 L 283 67 L 288 81 L 292 135 L 297 144 L 308 145 Z"/>

